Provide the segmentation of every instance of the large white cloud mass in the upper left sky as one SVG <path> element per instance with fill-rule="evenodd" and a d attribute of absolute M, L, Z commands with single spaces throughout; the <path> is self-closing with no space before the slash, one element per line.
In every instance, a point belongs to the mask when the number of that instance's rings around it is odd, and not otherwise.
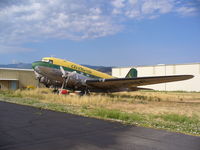
<path fill-rule="evenodd" d="M 120 26 L 101 9 L 99 3 L 90 6 L 87 0 L 29 0 L 13 4 L 0 10 L 0 26 L 7 28 L 1 31 L 4 36 L 0 42 L 39 37 L 80 40 L 118 32 Z"/>

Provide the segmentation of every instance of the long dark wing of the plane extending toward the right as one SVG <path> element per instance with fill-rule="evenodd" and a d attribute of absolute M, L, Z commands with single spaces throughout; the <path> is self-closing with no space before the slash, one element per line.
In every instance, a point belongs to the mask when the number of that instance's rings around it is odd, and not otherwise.
<path fill-rule="evenodd" d="M 93 88 L 115 90 L 115 89 L 133 89 L 137 86 L 166 83 L 173 81 L 181 81 L 193 78 L 193 75 L 175 75 L 175 76 L 154 76 L 154 77 L 136 77 L 136 78 L 112 78 L 112 79 L 97 79 L 87 80 L 86 84 Z M 117 90 L 116 90 L 117 91 Z"/>

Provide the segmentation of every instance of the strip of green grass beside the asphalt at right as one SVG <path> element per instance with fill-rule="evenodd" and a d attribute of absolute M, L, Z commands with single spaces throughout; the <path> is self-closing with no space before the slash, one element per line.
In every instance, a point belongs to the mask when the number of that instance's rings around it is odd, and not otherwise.
<path fill-rule="evenodd" d="M 120 120 L 127 124 L 167 129 L 192 135 L 200 135 L 200 121 L 196 116 L 187 117 L 178 114 L 139 114 L 126 113 L 119 110 L 98 108 L 87 110 L 85 114 L 91 117 Z"/>

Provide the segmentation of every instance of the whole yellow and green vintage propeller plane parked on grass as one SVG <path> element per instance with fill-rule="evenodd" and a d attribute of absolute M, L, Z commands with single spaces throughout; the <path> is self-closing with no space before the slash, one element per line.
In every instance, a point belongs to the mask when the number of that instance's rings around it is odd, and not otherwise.
<path fill-rule="evenodd" d="M 46 87 L 90 92 L 137 91 L 144 88 L 138 86 L 181 81 L 193 78 L 193 75 L 137 77 L 134 68 L 130 69 L 125 78 L 116 78 L 106 73 L 84 67 L 67 60 L 44 57 L 32 63 L 36 78 Z"/>

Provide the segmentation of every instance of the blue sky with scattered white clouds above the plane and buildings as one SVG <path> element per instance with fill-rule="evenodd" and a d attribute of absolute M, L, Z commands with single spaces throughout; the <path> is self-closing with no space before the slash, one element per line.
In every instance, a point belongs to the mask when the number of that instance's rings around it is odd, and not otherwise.
<path fill-rule="evenodd" d="M 200 62 L 200 0 L 0 0 L 0 64 Z"/>

